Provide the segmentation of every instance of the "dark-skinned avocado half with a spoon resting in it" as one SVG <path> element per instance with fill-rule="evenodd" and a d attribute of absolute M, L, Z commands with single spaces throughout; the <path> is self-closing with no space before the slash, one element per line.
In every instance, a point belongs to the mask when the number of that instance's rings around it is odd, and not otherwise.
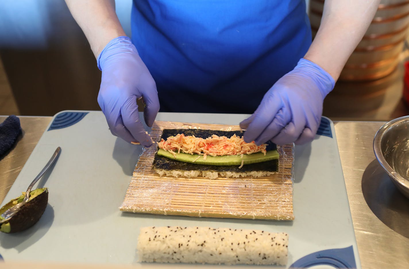
<path fill-rule="evenodd" d="M 16 199 L 13 199 L 0 208 L 0 215 L 7 209 L 23 201 L 25 192 Z M 29 194 L 29 200 L 25 203 L 16 214 L 7 222 L 0 226 L 3 233 L 16 233 L 24 231 L 38 222 L 43 215 L 48 203 L 48 189 L 38 188 L 32 190 Z M 0 216 L 0 220 L 3 219 Z"/>

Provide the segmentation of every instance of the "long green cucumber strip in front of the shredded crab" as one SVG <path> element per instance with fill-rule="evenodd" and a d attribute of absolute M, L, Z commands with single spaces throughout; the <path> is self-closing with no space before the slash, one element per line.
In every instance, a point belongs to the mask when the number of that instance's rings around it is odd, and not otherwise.
<path fill-rule="evenodd" d="M 241 161 L 244 160 L 243 164 L 250 163 L 261 163 L 267 160 L 278 159 L 279 153 L 277 150 L 267 151 L 264 155 L 262 152 L 244 154 L 243 158 L 241 155 L 225 155 L 225 156 L 206 156 L 206 160 L 203 160 L 203 155 L 198 154 L 188 154 L 188 153 L 176 153 L 174 156 L 171 152 L 164 149 L 159 149 L 157 155 L 163 156 L 172 160 L 178 160 L 184 163 L 195 163 L 200 165 L 241 165 Z M 198 158 L 199 157 L 199 158 Z M 196 160 L 197 159 L 197 160 Z"/>

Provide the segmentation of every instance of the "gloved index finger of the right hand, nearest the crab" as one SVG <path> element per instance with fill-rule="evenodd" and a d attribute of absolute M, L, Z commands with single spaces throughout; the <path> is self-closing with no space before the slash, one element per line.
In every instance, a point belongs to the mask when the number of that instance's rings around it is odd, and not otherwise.
<path fill-rule="evenodd" d="M 283 107 L 281 98 L 274 98 L 273 94 L 263 97 L 263 100 L 254 112 L 254 118 L 244 132 L 245 142 L 251 142 L 258 138 L 265 128 L 275 118 L 277 112 Z"/>

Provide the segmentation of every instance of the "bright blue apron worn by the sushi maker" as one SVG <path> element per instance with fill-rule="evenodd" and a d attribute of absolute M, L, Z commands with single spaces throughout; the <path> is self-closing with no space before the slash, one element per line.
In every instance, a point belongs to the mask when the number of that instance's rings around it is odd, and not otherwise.
<path fill-rule="evenodd" d="M 160 111 L 253 113 L 311 44 L 304 0 L 134 0 Z"/>

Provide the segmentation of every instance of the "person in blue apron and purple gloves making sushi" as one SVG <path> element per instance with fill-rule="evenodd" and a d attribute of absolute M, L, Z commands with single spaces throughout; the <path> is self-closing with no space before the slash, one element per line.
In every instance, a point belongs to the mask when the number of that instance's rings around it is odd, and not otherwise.
<path fill-rule="evenodd" d="M 114 0 L 66 0 L 102 71 L 112 134 L 152 144 L 158 111 L 252 114 L 246 142 L 310 142 L 326 95 L 379 0 L 326 0 L 311 42 L 304 0 L 133 0 L 132 40 Z"/>

